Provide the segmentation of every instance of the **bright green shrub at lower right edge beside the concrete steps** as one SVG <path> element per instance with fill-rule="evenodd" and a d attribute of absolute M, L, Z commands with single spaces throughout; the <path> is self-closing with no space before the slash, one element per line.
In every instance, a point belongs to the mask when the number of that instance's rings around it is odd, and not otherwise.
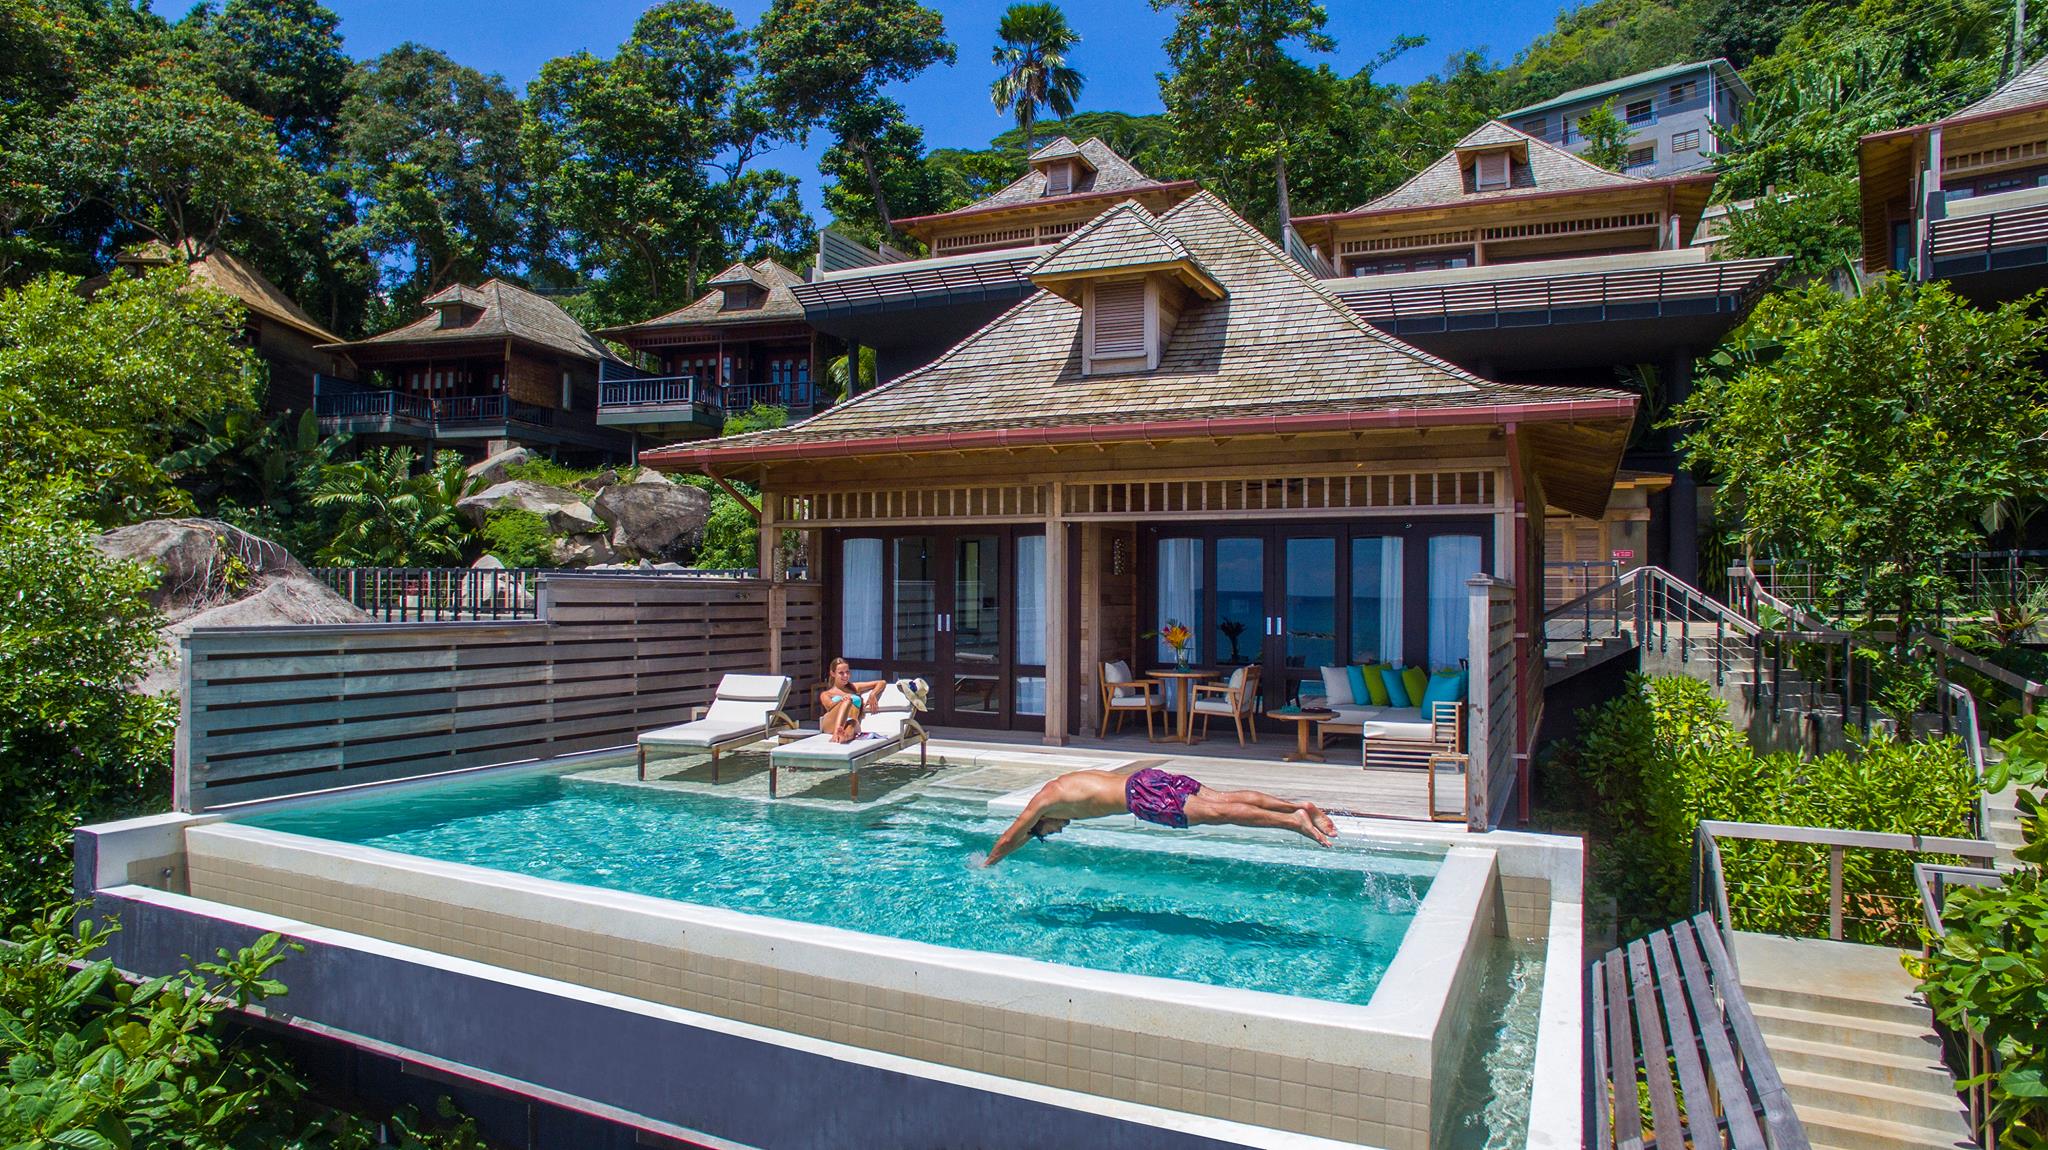
<path fill-rule="evenodd" d="M 1999 1066 L 1964 1087 L 1987 1087 L 1989 1121 L 1999 1146 L 2048 1146 L 2048 837 L 2042 835 L 2042 784 L 2048 782 L 2048 716 L 2019 722 L 2001 739 L 2003 761 L 1987 784 L 2011 782 L 2023 845 L 2003 886 L 1956 888 L 1942 909 L 1942 937 L 1927 937 L 1927 958 L 1907 966 L 1935 1017 L 1954 1033 L 1980 1031 Z"/>

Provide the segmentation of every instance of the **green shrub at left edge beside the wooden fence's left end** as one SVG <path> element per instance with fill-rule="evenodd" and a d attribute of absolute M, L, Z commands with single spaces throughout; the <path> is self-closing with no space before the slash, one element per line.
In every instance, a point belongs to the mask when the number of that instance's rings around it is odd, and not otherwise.
<path fill-rule="evenodd" d="M 178 700 L 133 694 L 162 659 L 156 573 L 92 548 L 68 483 L 0 477 L 0 915 L 66 900 L 72 827 L 162 810 Z"/>

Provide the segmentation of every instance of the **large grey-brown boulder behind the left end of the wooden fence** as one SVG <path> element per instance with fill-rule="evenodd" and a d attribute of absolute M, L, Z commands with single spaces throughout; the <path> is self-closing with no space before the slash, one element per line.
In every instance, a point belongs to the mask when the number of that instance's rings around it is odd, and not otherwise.
<path fill-rule="evenodd" d="M 283 546 L 219 520 L 150 520 L 94 540 L 100 552 L 162 571 L 150 602 L 164 612 L 166 659 L 137 692 L 178 690 L 178 638 L 201 626 L 369 622 Z"/>

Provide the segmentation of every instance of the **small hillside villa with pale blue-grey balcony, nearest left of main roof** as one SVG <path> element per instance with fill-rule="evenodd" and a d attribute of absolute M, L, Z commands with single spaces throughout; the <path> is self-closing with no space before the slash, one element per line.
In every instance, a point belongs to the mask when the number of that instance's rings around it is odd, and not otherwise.
<path fill-rule="evenodd" d="M 645 366 L 598 366 L 598 426 L 635 446 L 715 436 L 727 413 L 782 407 L 803 419 L 819 407 L 825 340 L 791 289 L 803 276 L 774 260 L 739 262 L 705 280 L 705 295 L 641 323 L 606 327 Z"/>

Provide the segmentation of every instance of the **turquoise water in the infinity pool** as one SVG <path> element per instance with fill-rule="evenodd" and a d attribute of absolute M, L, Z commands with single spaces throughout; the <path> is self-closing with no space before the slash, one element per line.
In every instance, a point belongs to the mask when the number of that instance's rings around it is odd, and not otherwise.
<path fill-rule="evenodd" d="M 246 825 L 926 943 L 1366 1003 L 1442 861 L 1274 833 L 1075 827 L 975 866 L 1004 819 L 930 796 L 858 810 L 553 771 Z"/>

